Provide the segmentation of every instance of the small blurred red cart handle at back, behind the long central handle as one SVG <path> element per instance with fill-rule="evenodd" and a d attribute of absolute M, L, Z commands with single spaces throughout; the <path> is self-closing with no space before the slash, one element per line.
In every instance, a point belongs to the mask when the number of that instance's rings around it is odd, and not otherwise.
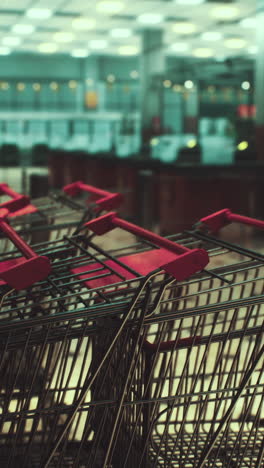
<path fill-rule="evenodd" d="M 124 197 L 121 193 L 110 193 L 106 190 L 101 190 L 97 187 L 94 187 L 93 185 L 84 184 L 81 181 L 66 185 L 63 190 L 65 193 L 67 193 L 67 195 L 72 197 L 75 197 L 81 191 L 101 197 L 99 200 L 96 200 L 96 204 L 106 211 L 118 208 L 124 200 Z"/>

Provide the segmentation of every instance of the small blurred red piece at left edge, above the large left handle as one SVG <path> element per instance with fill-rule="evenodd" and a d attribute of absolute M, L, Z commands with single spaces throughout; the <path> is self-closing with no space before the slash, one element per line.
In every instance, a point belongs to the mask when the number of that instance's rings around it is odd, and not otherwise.
<path fill-rule="evenodd" d="M 9 185 L 0 184 L 0 195 L 7 195 L 12 198 L 0 204 L 0 208 L 7 208 L 9 216 L 21 216 L 22 214 L 32 213 L 37 211 L 33 205 L 29 205 L 30 198 L 26 195 L 20 195 L 15 192 Z"/>

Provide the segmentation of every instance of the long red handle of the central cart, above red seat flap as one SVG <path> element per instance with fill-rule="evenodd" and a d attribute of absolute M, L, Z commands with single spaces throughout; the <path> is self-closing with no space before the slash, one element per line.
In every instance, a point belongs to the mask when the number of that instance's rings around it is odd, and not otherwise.
<path fill-rule="evenodd" d="M 169 239 L 165 239 L 158 234 L 147 231 L 135 224 L 129 223 L 117 216 L 116 213 L 111 212 L 106 215 L 100 216 L 85 224 L 86 227 L 91 229 L 95 234 L 102 235 L 116 227 L 120 227 L 129 231 L 137 236 L 154 243 L 156 246 L 166 249 L 175 254 L 171 257 L 169 263 L 162 264 L 160 268 L 165 270 L 170 275 L 174 276 L 179 281 L 189 278 L 194 273 L 197 273 L 205 268 L 209 262 L 209 257 L 206 250 L 193 249 L 176 244 Z M 161 252 L 161 256 L 163 256 Z M 143 260 L 144 261 L 144 260 Z"/>

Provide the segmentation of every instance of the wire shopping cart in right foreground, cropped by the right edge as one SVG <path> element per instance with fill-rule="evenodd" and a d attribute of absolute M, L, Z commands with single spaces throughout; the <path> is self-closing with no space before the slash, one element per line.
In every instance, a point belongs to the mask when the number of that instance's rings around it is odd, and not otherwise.
<path fill-rule="evenodd" d="M 106 421 L 101 440 L 110 440 L 101 466 L 263 466 L 264 256 L 204 232 L 232 221 L 264 228 L 262 221 L 223 210 L 201 220 L 202 229 L 176 237 L 185 246 L 204 247 L 210 270 L 178 277 L 158 306 L 146 306 L 114 430 L 107 417 L 123 382 L 122 351 L 115 362 L 120 373 L 94 390 L 92 398 L 102 406 L 99 421 Z M 122 227 L 146 236 L 113 213 L 88 224 L 99 235 Z M 138 255 L 121 257 L 122 262 L 138 265 Z"/>

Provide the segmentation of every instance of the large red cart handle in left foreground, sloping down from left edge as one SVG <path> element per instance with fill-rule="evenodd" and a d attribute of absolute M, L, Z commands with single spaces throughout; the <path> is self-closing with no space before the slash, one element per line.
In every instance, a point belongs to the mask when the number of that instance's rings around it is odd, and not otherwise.
<path fill-rule="evenodd" d="M 14 289 L 25 289 L 49 275 L 51 271 L 50 261 L 47 257 L 38 256 L 19 237 L 7 222 L 8 214 L 7 209 L 0 210 L 0 230 L 20 250 L 24 258 L 1 262 L 0 278 Z"/>

